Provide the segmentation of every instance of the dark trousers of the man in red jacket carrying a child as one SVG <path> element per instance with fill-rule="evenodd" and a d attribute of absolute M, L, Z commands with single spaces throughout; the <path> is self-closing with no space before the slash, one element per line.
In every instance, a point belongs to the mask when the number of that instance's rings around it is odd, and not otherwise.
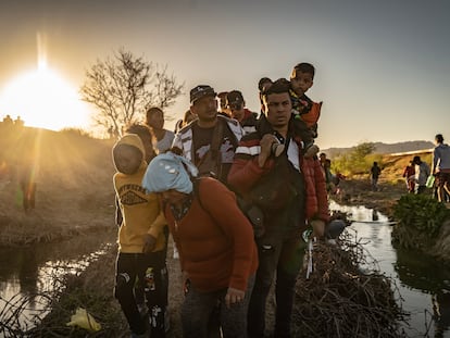
<path fill-rule="evenodd" d="M 275 273 L 274 336 L 290 337 L 295 286 L 302 266 L 305 245 L 298 229 L 267 231 L 257 243 L 260 265 L 249 304 L 249 337 L 264 337 L 265 305 Z"/>

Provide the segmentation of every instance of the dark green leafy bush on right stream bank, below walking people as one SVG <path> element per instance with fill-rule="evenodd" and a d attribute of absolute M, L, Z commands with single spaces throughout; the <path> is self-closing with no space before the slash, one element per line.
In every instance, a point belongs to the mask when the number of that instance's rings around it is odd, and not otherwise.
<path fill-rule="evenodd" d="M 398 227 L 412 227 L 428 238 L 436 237 L 449 216 L 446 205 L 427 195 L 404 195 L 393 205 L 393 217 Z"/>

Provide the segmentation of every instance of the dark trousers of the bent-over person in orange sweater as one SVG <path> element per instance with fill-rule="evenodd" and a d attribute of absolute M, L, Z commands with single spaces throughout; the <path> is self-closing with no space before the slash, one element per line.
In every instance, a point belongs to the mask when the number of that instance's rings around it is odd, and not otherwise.
<path fill-rule="evenodd" d="M 186 293 L 182 306 L 182 325 L 184 338 L 207 338 L 208 324 L 214 309 L 220 306 L 220 322 L 224 338 L 247 337 L 247 312 L 253 288 L 254 276 L 249 277 L 246 297 L 240 303 L 225 304 L 227 289 L 201 292 L 192 285 Z"/>

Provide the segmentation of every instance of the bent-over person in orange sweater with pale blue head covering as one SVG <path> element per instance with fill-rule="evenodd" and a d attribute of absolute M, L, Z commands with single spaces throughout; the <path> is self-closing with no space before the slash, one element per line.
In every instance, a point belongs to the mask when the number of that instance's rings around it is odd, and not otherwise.
<path fill-rule="evenodd" d="M 247 337 L 247 310 L 258 266 L 253 230 L 236 196 L 172 152 L 147 168 L 142 186 L 159 192 L 189 288 L 182 308 L 183 337 L 207 337 L 217 302 L 224 337 Z M 195 188 L 197 185 L 197 188 Z"/>

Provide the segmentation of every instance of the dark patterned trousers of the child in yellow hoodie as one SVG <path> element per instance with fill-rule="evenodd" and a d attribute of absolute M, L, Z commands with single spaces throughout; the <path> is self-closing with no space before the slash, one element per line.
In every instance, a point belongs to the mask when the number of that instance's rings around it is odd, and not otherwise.
<path fill-rule="evenodd" d="M 143 334 L 147 329 L 147 318 L 142 318 L 134 295 L 137 277 L 146 275 L 152 268 L 153 280 L 145 283 L 145 298 L 150 313 L 152 337 L 165 337 L 164 311 L 167 304 L 167 268 L 165 265 L 166 251 L 151 253 L 120 252 L 116 262 L 114 296 L 134 334 Z"/>

